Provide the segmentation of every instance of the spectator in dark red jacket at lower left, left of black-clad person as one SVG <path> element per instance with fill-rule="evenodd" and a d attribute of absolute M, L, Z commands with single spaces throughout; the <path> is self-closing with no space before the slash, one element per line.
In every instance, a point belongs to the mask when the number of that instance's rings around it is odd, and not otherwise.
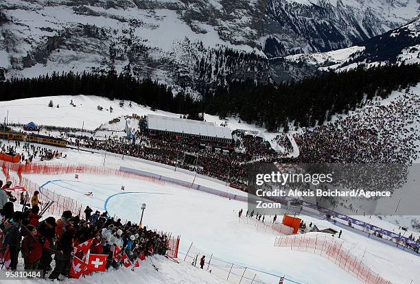
<path fill-rule="evenodd" d="M 38 232 L 36 231 L 36 228 L 32 225 L 27 225 L 26 228 L 30 233 L 27 233 L 27 236 L 23 238 L 21 244 L 23 260 L 25 261 L 25 270 L 36 270 L 38 269 L 41 255 L 43 255 L 43 245 L 41 244 L 41 240 L 37 237 Z"/>

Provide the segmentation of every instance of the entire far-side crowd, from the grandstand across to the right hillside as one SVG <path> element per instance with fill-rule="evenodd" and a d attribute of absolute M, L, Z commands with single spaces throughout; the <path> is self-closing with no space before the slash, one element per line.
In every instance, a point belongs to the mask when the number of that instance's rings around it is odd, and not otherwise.
<path fill-rule="evenodd" d="M 300 153 L 297 158 L 285 158 L 284 153 L 275 152 L 259 137 L 244 134 L 239 136 L 243 151 L 230 150 L 229 154 L 214 151 L 215 145 L 211 145 L 213 151 L 200 147 L 202 141 L 198 138 L 150 135 L 145 131 L 136 132 L 135 145 L 111 138 L 82 139 L 74 144 L 176 165 L 243 185 L 248 178 L 248 164 L 256 162 L 409 163 L 419 158 L 419 113 L 420 98 L 412 93 L 387 104 L 367 102 L 364 108 L 342 119 L 294 134 Z M 287 135 L 281 134 L 274 141 L 286 154 L 292 152 Z M 198 156 L 196 164 L 185 163 L 185 154 Z"/>

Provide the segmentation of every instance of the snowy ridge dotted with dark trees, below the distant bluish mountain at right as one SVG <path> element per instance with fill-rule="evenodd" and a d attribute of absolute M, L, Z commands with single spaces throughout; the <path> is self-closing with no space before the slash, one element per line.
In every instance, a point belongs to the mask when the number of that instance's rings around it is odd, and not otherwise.
<path fill-rule="evenodd" d="M 410 23 L 369 38 L 360 45 L 312 54 L 295 54 L 270 60 L 271 71 L 281 80 L 294 80 L 316 71 L 342 71 L 364 64 L 420 63 L 420 17 Z"/>

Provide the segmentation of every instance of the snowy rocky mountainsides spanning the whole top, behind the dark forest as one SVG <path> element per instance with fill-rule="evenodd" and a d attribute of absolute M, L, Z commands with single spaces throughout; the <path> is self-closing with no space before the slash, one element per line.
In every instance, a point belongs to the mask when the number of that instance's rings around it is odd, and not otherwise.
<path fill-rule="evenodd" d="M 407 23 L 417 1 L 0 0 L 0 79 L 115 67 L 192 92 L 279 80 L 268 58 L 349 47 Z"/>

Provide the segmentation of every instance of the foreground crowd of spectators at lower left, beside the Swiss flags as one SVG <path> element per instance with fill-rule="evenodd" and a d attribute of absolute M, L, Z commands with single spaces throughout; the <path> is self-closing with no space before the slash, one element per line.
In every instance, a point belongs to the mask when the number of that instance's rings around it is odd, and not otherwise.
<path fill-rule="evenodd" d="M 0 257 L 2 268 L 9 265 L 12 270 L 43 270 L 43 277 L 48 279 L 71 278 L 73 257 L 84 259 L 85 254 L 75 248 L 89 240 L 91 254 L 107 255 L 107 269 L 111 266 L 118 269 L 124 264 L 113 254 L 116 247 L 132 262 L 151 255 L 166 255 L 169 240 L 163 233 L 130 221 L 122 224 L 120 219 L 108 217 L 107 212 L 93 213 L 89 206 L 82 216 L 64 211 L 58 220 L 46 217 L 46 213 L 40 215 L 37 193 L 32 197 L 31 207 L 23 211 L 11 201 L 0 204 L 0 256 L 10 256 L 10 263 L 2 263 L 7 257 Z"/>

